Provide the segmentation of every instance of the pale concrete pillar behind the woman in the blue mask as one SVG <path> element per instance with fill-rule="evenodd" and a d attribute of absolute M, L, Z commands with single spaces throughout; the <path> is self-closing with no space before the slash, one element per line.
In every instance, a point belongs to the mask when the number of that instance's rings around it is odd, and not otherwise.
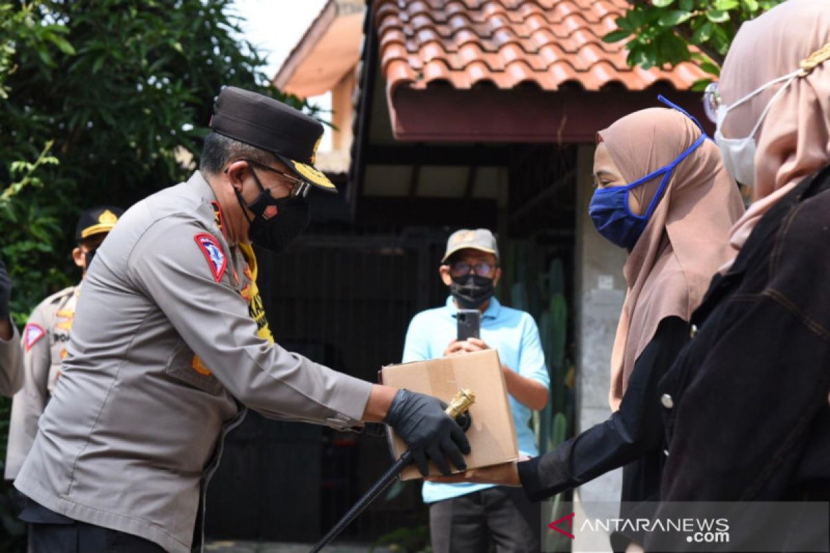
<path fill-rule="evenodd" d="M 579 147 L 576 194 L 575 331 L 576 432 L 606 420 L 610 386 L 611 348 L 625 298 L 623 264 L 626 252 L 605 240 L 588 217 L 593 195 L 593 145 Z M 581 486 L 574 494 L 577 508 L 592 515 L 591 502 L 619 502 L 622 469 Z M 604 543 L 580 542 L 573 551 L 611 551 Z M 583 537 L 584 539 L 584 537 Z"/>

